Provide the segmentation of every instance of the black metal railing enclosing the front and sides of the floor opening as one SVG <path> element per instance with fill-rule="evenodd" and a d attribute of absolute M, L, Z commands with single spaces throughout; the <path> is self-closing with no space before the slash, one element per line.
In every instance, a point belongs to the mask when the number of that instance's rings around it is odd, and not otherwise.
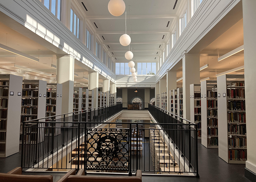
<path fill-rule="evenodd" d="M 198 176 L 196 124 L 149 104 L 159 123 L 102 122 L 121 110 L 118 104 L 23 122 L 21 167 Z"/>

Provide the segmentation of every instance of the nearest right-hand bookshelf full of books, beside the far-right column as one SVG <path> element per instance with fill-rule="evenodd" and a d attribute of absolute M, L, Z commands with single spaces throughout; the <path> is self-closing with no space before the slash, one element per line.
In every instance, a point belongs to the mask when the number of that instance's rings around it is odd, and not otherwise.
<path fill-rule="evenodd" d="M 247 160 L 244 75 L 217 77 L 219 157 L 230 164 Z"/>

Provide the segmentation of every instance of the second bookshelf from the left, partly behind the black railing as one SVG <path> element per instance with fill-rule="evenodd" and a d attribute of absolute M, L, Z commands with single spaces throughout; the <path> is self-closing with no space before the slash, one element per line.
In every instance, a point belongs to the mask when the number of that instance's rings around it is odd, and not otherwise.
<path fill-rule="evenodd" d="M 43 80 L 23 80 L 22 93 L 21 93 L 21 119 L 20 121 L 28 121 L 37 118 L 45 117 L 46 106 L 46 81 Z M 42 122 L 45 119 L 40 120 Z M 20 123 L 20 144 L 22 143 L 22 124 Z M 34 128 L 34 131 L 25 131 L 26 141 L 42 142 L 44 139 L 42 136 L 36 137 L 36 134 L 40 132 Z"/>

